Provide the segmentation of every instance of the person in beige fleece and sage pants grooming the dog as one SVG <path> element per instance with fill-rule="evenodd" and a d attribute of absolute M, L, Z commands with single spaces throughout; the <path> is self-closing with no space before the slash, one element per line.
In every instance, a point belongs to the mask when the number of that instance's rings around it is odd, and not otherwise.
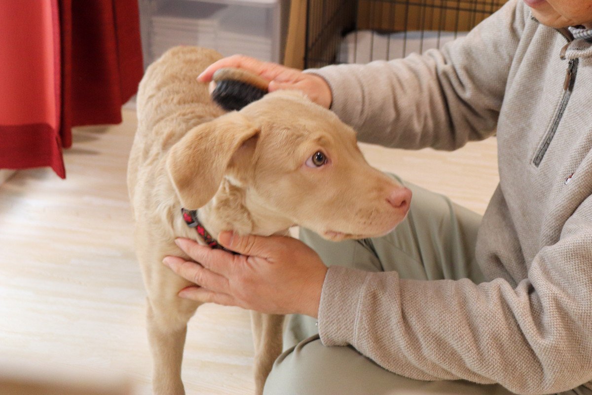
<path fill-rule="evenodd" d="M 482 217 L 411 185 L 384 237 L 221 233 L 236 256 L 178 240 L 201 264 L 165 258 L 200 279 L 179 296 L 310 317 L 289 323 L 300 342 L 266 394 L 592 394 L 592 0 L 510 0 L 405 59 L 300 72 L 233 56 L 201 81 L 224 66 L 300 89 L 364 142 L 453 150 L 497 127 Z"/>

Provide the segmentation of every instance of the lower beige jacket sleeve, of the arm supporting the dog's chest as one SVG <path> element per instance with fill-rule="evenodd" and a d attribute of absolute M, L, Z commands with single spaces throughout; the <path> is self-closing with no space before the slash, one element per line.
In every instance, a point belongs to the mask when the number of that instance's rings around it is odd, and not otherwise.
<path fill-rule="evenodd" d="M 331 266 L 321 293 L 324 345 L 353 345 L 418 380 L 500 383 L 557 393 L 592 380 L 592 197 L 517 285 L 401 280 Z"/>

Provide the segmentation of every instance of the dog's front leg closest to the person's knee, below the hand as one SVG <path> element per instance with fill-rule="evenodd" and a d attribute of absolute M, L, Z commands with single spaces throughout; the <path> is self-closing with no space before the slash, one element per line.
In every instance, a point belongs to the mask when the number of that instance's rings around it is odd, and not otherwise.
<path fill-rule="evenodd" d="M 261 395 L 274 361 L 282 353 L 284 316 L 251 311 L 255 344 L 255 393 Z"/>

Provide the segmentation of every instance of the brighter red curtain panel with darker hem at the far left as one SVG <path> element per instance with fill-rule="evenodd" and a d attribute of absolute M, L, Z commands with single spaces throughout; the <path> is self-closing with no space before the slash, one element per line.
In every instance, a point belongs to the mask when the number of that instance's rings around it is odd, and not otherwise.
<path fill-rule="evenodd" d="M 57 0 L 0 0 L 0 168 L 65 174 L 56 16 Z"/>

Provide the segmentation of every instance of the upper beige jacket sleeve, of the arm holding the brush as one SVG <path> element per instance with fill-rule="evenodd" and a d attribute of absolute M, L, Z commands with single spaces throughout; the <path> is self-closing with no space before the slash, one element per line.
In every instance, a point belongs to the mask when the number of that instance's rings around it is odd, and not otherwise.
<path fill-rule="evenodd" d="M 491 136 L 519 38 L 529 16 L 510 0 L 468 36 L 390 62 L 333 65 L 323 77 L 332 110 L 363 142 L 452 150 Z"/>

